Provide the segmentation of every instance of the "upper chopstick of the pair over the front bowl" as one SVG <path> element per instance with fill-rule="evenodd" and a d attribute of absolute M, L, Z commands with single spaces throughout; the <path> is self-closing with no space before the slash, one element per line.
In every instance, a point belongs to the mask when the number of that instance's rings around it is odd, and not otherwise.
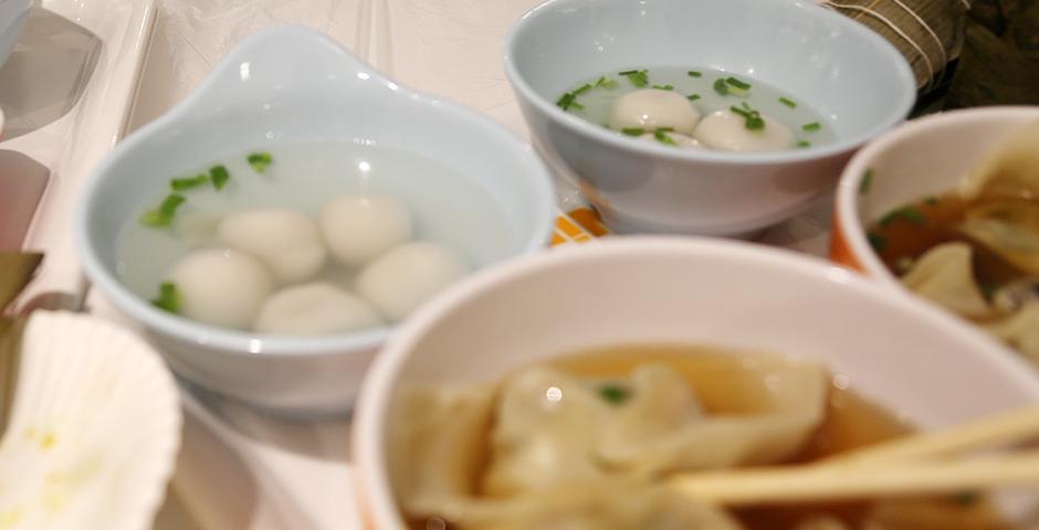
<path fill-rule="evenodd" d="M 857 465 L 942 458 L 955 453 L 1039 441 L 1039 405 L 987 416 L 943 431 L 932 431 L 835 455 L 819 465 Z"/>

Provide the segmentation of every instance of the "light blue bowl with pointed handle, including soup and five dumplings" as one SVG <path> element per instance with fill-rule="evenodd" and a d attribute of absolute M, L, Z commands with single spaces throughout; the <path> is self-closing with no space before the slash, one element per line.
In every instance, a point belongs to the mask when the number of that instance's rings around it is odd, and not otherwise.
<path fill-rule="evenodd" d="M 542 248 L 553 204 L 503 127 L 286 26 L 96 168 L 76 239 L 90 280 L 180 375 L 329 414 L 427 298 Z"/>

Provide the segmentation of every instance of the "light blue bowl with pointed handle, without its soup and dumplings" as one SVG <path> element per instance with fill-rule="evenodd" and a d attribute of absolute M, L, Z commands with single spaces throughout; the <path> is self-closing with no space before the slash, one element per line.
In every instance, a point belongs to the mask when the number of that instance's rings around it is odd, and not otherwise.
<path fill-rule="evenodd" d="M 144 326 L 179 374 L 280 412 L 342 413 L 389 329 L 314 338 L 229 331 L 156 309 L 116 274 L 122 227 L 171 176 L 312 141 L 374 144 L 439 162 L 494 201 L 513 236 L 510 255 L 548 241 L 552 186 L 528 146 L 487 118 L 382 77 L 324 35 L 291 26 L 243 41 L 192 96 L 117 146 L 85 186 L 75 235 L 88 278 Z"/>

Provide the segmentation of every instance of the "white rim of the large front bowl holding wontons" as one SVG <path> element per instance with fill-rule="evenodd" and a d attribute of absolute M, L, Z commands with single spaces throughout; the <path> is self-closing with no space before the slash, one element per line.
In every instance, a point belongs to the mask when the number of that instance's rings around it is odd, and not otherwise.
<path fill-rule="evenodd" d="M 401 370 L 407 364 L 417 344 L 435 328 L 442 319 L 454 314 L 472 298 L 493 293 L 502 285 L 520 278 L 542 276 L 560 267 L 581 267 L 583 264 L 630 258 L 696 259 L 703 256 L 725 261 L 757 262 L 769 268 L 784 269 L 810 276 L 818 282 L 842 285 L 848 296 L 870 298 L 877 304 L 913 315 L 922 324 L 942 328 L 948 335 L 958 336 L 959 341 L 970 347 L 978 356 L 987 358 L 989 364 L 1022 388 L 1031 389 L 1039 398 L 1039 374 L 1029 369 L 1017 356 L 1008 356 L 999 344 L 985 333 L 964 326 L 945 311 L 910 297 L 896 296 L 888 289 L 878 289 L 875 283 L 844 267 L 808 255 L 780 248 L 767 247 L 741 241 L 712 237 L 680 236 L 618 236 L 594 245 L 573 245 L 552 252 L 524 256 L 483 269 L 451 286 L 430 304 L 424 305 L 390 337 L 368 370 L 355 409 L 350 448 L 354 455 L 354 488 L 358 509 L 370 528 L 392 521 L 406 528 L 390 485 L 384 462 L 382 443 L 389 403 Z"/>

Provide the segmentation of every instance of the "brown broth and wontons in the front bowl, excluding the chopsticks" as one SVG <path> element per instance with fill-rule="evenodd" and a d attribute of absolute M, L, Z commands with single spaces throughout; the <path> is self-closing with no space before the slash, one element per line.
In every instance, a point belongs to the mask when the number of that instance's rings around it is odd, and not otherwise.
<path fill-rule="evenodd" d="M 910 426 L 847 377 L 695 346 L 600 349 L 498 384 L 402 389 L 390 468 L 411 528 L 1004 528 L 976 495 L 735 510 L 674 474 L 825 458 Z"/>

